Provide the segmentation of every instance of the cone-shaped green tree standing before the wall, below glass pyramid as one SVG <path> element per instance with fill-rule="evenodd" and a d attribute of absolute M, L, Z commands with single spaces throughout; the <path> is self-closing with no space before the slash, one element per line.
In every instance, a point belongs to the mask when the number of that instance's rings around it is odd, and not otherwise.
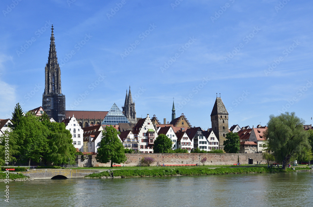
<path fill-rule="evenodd" d="M 117 136 L 119 133 L 112 125 L 105 127 L 105 130 L 102 131 L 103 138 L 100 141 L 96 156 L 97 162 L 108 163 L 111 161 L 111 167 L 113 167 L 113 163 L 120 164 L 127 160 L 124 146 Z"/>

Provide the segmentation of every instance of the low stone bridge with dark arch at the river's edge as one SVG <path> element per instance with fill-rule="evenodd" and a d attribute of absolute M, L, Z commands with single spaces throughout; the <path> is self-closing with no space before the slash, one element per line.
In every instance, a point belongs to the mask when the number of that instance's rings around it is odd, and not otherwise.
<path fill-rule="evenodd" d="M 97 173 L 97 170 L 83 169 L 30 169 L 21 172 L 32 179 L 52 179 L 52 178 L 84 178 L 86 175 Z"/>

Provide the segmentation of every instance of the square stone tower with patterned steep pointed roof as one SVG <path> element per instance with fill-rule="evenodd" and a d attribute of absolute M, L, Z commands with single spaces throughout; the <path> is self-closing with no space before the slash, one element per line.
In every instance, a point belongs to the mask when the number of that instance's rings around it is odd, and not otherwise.
<path fill-rule="evenodd" d="M 212 130 L 219 141 L 219 148 L 224 148 L 224 141 L 228 133 L 228 112 L 221 99 L 216 97 L 211 113 Z"/>

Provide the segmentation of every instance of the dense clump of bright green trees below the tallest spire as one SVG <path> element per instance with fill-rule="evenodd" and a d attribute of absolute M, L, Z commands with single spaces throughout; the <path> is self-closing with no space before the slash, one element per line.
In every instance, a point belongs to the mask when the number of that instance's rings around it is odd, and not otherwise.
<path fill-rule="evenodd" d="M 68 159 L 75 163 L 72 135 L 64 123 L 50 123 L 46 114 L 37 117 L 26 113 L 8 133 L 8 139 L 4 136 L 0 137 L 0 149 L 6 144 L 9 146 L 9 160 L 13 164 L 19 161 L 30 165 L 31 160 L 40 162 L 42 159 L 45 165 L 68 163 Z"/>

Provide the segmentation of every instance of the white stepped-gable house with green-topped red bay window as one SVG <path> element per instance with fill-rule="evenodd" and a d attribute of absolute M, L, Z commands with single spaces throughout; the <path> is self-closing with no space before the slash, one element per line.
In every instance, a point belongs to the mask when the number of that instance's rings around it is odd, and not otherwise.
<path fill-rule="evenodd" d="M 139 140 L 139 150 L 143 153 L 153 153 L 153 144 L 156 138 L 156 126 L 152 124 L 149 114 L 139 119 L 133 127 L 134 138 Z"/>

